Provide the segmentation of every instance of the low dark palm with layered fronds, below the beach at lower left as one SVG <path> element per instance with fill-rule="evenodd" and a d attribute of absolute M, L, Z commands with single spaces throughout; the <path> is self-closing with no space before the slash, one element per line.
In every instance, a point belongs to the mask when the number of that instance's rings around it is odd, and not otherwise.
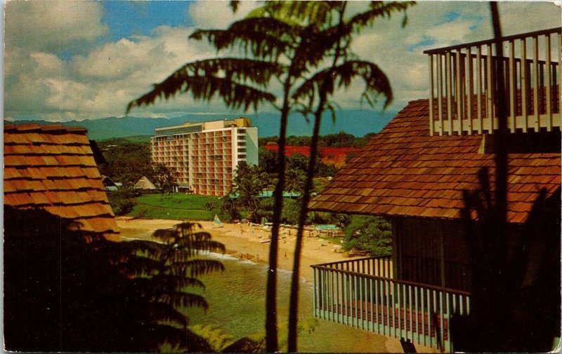
<path fill-rule="evenodd" d="M 223 264 L 214 259 L 198 257 L 204 252 L 224 252 L 222 243 L 200 231 L 200 225 L 188 222 L 174 229 L 157 230 L 152 235 L 158 242 L 133 240 L 122 243 L 122 273 L 129 278 L 131 293 L 127 299 L 150 313 L 146 320 L 155 338 L 144 350 L 156 350 L 163 339 L 188 351 L 211 351 L 209 343 L 188 328 L 188 308 L 207 309 L 207 301 L 191 292 L 193 287 L 204 288 L 199 275 L 222 271 Z M 157 339 L 155 341 L 154 339 Z"/>

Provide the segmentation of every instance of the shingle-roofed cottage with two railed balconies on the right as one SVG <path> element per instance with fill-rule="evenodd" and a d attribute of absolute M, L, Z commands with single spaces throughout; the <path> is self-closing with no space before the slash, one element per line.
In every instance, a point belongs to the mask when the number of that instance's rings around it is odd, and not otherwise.
<path fill-rule="evenodd" d="M 483 214 L 465 208 L 464 196 L 480 191 L 484 205 L 487 196 L 495 202 L 492 43 L 426 52 L 429 99 L 409 102 L 311 203 L 312 210 L 381 215 L 393 227 L 392 257 L 313 266 L 317 317 L 403 343 L 460 347 L 452 322 L 471 315 L 472 294 L 481 290 L 473 272 L 481 276 L 487 264 L 477 260 L 479 240 L 466 223 Z M 514 259 L 509 296 L 518 299 L 521 325 L 542 321 L 525 332 L 535 342 L 560 337 L 562 64 L 552 60 L 561 57 L 560 43 L 561 29 L 504 37 L 508 237 L 499 247 Z"/>

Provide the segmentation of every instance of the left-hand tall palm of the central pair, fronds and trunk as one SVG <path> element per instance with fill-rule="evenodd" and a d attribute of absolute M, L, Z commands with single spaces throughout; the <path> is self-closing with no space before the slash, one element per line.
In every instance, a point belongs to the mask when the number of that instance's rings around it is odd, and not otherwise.
<path fill-rule="evenodd" d="M 328 8 L 336 6 L 327 4 Z M 320 7 L 322 9 L 324 7 Z M 315 15 L 325 18 L 329 13 L 322 11 Z M 218 95 L 227 107 L 233 109 L 257 110 L 263 103 L 268 103 L 280 111 L 278 179 L 274 191 L 266 291 L 266 347 L 269 352 L 275 352 L 278 350 L 277 245 L 285 189 L 287 121 L 291 111 L 299 106 L 293 98 L 296 88 L 307 79 L 311 68 L 317 67 L 329 55 L 336 39 L 328 33 L 321 34 L 315 24 L 300 25 L 276 18 L 270 6 L 254 11 L 228 29 L 197 30 L 190 38 L 207 39 L 219 52 L 237 48 L 242 51 L 242 57 L 216 57 L 185 64 L 167 79 L 155 84 L 149 93 L 129 102 L 126 111 L 154 104 L 159 97 L 167 100 L 180 92 L 191 93 L 195 100 L 207 101 Z M 279 100 L 268 91 L 272 79 L 280 83 Z"/>

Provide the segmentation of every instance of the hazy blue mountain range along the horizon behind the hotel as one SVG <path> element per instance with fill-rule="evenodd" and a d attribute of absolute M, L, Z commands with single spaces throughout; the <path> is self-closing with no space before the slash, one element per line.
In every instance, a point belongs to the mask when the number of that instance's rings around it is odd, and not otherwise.
<path fill-rule="evenodd" d="M 332 121 L 330 114 L 322 117 L 320 128 L 321 135 L 346 132 L 356 137 L 362 137 L 368 132 L 379 132 L 388 123 L 396 112 L 392 111 L 370 111 L 364 109 L 341 110 L 337 112 L 336 121 Z M 6 124 L 30 124 L 39 125 L 63 124 L 67 126 L 79 126 L 88 130 L 88 136 L 93 140 L 110 139 L 114 137 L 131 137 L 136 135 L 154 135 L 155 128 L 170 125 L 181 125 L 183 123 L 195 123 L 202 121 L 216 121 L 225 118 L 238 118 L 245 116 L 251 118 L 252 125 L 258 127 L 260 137 L 279 135 L 279 114 L 261 112 L 259 114 L 187 114 L 174 118 L 140 118 L 140 117 L 107 117 L 100 119 L 86 119 L 84 121 L 51 122 L 41 120 L 4 121 Z M 287 135 L 311 135 L 313 122 L 307 122 L 300 114 L 289 117 Z"/>

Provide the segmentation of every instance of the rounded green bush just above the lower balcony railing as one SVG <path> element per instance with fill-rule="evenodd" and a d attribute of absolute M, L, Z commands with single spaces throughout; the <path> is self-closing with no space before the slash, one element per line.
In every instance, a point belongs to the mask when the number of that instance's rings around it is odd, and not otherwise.
<path fill-rule="evenodd" d="M 372 257 L 392 254 L 392 226 L 382 217 L 354 215 L 344 233 L 344 250 L 365 251 Z"/>

